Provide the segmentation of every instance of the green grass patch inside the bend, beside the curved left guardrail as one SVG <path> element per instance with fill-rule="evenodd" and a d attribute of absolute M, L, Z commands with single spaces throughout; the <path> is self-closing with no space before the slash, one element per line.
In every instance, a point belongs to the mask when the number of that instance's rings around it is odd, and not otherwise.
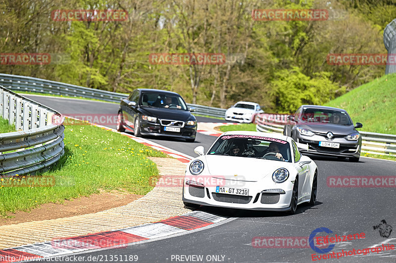
<path fill-rule="evenodd" d="M 0 217 L 10 212 L 29 211 L 39 204 L 89 196 L 100 190 L 146 194 L 158 170 L 148 156 L 166 157 L 162 152 L 139 144 L 126 136 L 91 125 L 68 125 L 65 129 L 65 154 L 53 169 L 42 174 L 53 176 L 53 187 L 1 187 Z M 35 180 L 43 179 L 42 176 Z M 29 178 L 32 179 L 33 178 Z M 13 181 L 15 180 L 15 181 Z M 27 182 L 16 176 L 13 183 Z"/>

